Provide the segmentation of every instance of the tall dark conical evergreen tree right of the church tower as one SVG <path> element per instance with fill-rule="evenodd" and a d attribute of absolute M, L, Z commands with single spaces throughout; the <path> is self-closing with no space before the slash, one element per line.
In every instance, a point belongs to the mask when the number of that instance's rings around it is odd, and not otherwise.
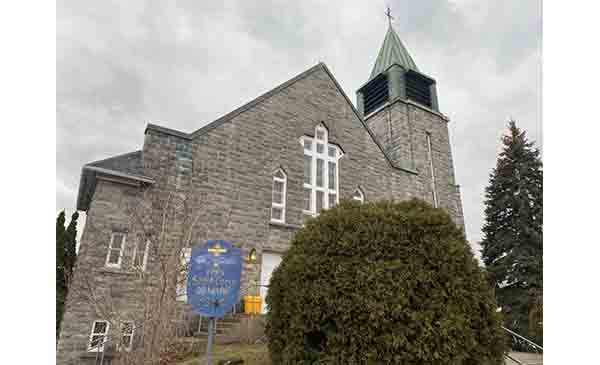
<path fill-rule="evenodd" d="M 542 162 L 515 121 L 508 129 L 485 189 L 482 256 L 505 325 L 541 344 L 541 331 L 530 332 L 529 314 L 543 288 Z"/>

